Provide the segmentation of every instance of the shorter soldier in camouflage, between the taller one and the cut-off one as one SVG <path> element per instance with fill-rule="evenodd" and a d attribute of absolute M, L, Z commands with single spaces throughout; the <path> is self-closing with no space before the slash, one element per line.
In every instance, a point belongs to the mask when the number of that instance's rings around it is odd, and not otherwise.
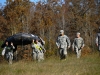
<path fill-rule="evenodd" d="M 76 51 L 77 58 L 80 58 L 81 50 L 84 47 L 84 40 L 83 40 L 83 38 L 80 37 L 80 33 L 79 32 L 77 33 L 76 36 L 77 36 L 77 38 L 74 39 L 74 42 L 72 44 L 72 48 L 73 48 L 73 51 L 74 50 Z"/>

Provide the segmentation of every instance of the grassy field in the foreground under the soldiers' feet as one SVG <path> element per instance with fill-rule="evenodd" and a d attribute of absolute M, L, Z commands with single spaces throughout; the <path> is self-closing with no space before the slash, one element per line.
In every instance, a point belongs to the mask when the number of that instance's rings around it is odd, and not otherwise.
<path fill-rule="evenodd" d="M 80 59 L 69 55 L 65 61 L 50 57 L 42 62 L 21 60 L 12 65 L 3 62 L 0 75 L 100 75 L 100 57 L 93 53 Z"/>

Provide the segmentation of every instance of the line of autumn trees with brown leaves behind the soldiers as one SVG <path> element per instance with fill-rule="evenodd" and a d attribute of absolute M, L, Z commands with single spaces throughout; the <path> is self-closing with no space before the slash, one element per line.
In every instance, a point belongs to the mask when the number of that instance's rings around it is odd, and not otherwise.
<path fill-rule="evenodd" d="M 37 34 L 46 41 L 46 49 L 55 49 L 56 37 L 63 29 L 71 41 L 80 32 L 85 45 L 95 48 L 100 26 L 97 0 L 6 0 L 0 8 L 0 39 L 19 32 Z"/>

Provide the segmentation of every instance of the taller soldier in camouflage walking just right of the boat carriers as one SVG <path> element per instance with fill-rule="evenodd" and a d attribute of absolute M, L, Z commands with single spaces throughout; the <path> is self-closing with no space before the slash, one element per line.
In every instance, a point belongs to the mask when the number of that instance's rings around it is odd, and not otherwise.
<path fill-rule="evenodd" d="M 60 59 L 66 59 L 67 49 L 70 48 L 70 39 L 64 35 L 64 30 L 60 30 L 60 35 L 57 38 L 56 45 L 59 49 Z"/>

